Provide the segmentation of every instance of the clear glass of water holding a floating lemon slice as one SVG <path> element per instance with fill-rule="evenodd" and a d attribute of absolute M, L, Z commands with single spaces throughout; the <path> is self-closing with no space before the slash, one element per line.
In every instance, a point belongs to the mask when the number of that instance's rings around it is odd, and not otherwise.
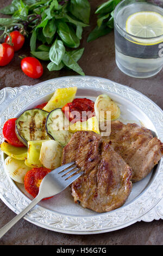
<path fill-rule="evenodd" d="M 162 69 L 163 35 L 142 38 L 126 31 L 126 21 L 130 15 L 140 11 L 152 11 L 163 16 L 162 7 L 161 0 L 123 0 L 115 8 L 116 64 L 125 74 L 146 78 L 154 76 Z"/>

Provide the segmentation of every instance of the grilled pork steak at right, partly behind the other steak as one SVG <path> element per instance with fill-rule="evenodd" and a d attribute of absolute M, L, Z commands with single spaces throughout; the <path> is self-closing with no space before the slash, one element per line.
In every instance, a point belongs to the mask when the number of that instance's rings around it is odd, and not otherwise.
<path fill-rule="evenodd" d="M 139 181 L 147 176 L 163 155 L 163 144 L 152 132 L 137 124 L 111 122 L 109 137 L 103 141 L 122 156 L 133 171 L 132 181 Z"/>

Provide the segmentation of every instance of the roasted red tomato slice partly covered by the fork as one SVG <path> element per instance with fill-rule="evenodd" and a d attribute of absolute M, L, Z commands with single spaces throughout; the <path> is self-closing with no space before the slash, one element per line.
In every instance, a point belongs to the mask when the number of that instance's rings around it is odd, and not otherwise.
<path fill-rule="evenodd" d="M 42 179 L 51 172 L 51 169 L 45 167 L 33 168 L 28 170 L 24 177 L 24 188 L 33 197 L 36 197 L 39 193 L 39 187 Z M 51 197 L 43 198 L 43 200 Z"/>

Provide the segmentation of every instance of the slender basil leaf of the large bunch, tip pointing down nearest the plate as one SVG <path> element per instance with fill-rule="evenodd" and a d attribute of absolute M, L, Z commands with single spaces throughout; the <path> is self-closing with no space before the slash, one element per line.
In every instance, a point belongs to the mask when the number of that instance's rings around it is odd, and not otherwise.
<path fill-rule="evenodd" d="M 70 53 L 65 52 L 65 55 L 62 59 L 62 62 L 68 66 L 68 68 L 76 71 L 78 74 L 84 76 L 84 72 L 82 70 L 82 68 L 80 68 L 80 66 L 78 65 L 78 63 L 71 57 Z"/>

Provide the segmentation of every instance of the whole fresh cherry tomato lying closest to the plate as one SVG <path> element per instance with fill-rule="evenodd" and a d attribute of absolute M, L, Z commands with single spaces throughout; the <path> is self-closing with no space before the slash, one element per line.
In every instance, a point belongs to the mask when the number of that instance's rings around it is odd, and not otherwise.
<path fill-rule="evenodd" d="M 21 68 L 24 74 L 31 78 L 40 78 L 43 74 L 43 67 L 38 59 L 26 57 L 21 61 Z"/>

